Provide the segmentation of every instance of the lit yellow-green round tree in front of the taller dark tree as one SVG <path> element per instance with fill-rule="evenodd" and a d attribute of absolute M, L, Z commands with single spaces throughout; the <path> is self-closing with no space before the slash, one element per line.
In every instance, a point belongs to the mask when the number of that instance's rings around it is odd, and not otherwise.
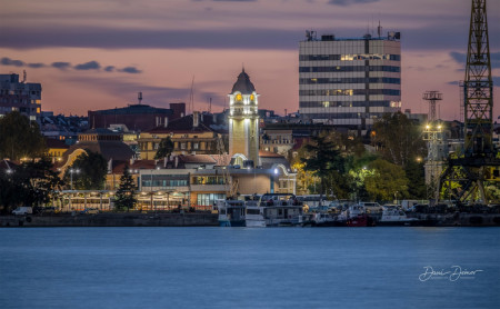
<path fill-rule="evenodd" d="M 408 196 L 408 179 L 404 170 L 383 159 L 377 159 L 368 167 L 364 186 L 372 200 L 389 201 Z"/>

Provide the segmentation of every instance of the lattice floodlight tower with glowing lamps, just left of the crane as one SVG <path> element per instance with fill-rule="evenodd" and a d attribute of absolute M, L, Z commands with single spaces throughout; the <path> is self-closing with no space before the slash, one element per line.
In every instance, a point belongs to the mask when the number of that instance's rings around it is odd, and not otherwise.
<path fill-rule="evenodd" d="M 442 93 L 427 91 L 422 99 L 429 102 L 429 119 L 423 130 L 423 140 L 428 141 L 428 156 L 424 165 L 427 196 L 430 201 L 439 198 L 439 177 L 442 172 L 443 159 L 448 151 L 443 149 L 443 126 L 438 120 L 436 107 L 442 100 Z"/>

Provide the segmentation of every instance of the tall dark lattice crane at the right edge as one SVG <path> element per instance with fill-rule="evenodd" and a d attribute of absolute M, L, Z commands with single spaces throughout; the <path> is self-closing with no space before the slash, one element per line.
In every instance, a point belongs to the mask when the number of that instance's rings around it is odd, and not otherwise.
<path fill-rule="evenodd" d="M 500 180 L 500 160 L 492 140 L 493 81 L 486 0 L 472 0 L 463 112 L 463 148 L 448 159 L 440 188 L 444 188 L 443 198 L 487 202 L 484 182 Z"/>

